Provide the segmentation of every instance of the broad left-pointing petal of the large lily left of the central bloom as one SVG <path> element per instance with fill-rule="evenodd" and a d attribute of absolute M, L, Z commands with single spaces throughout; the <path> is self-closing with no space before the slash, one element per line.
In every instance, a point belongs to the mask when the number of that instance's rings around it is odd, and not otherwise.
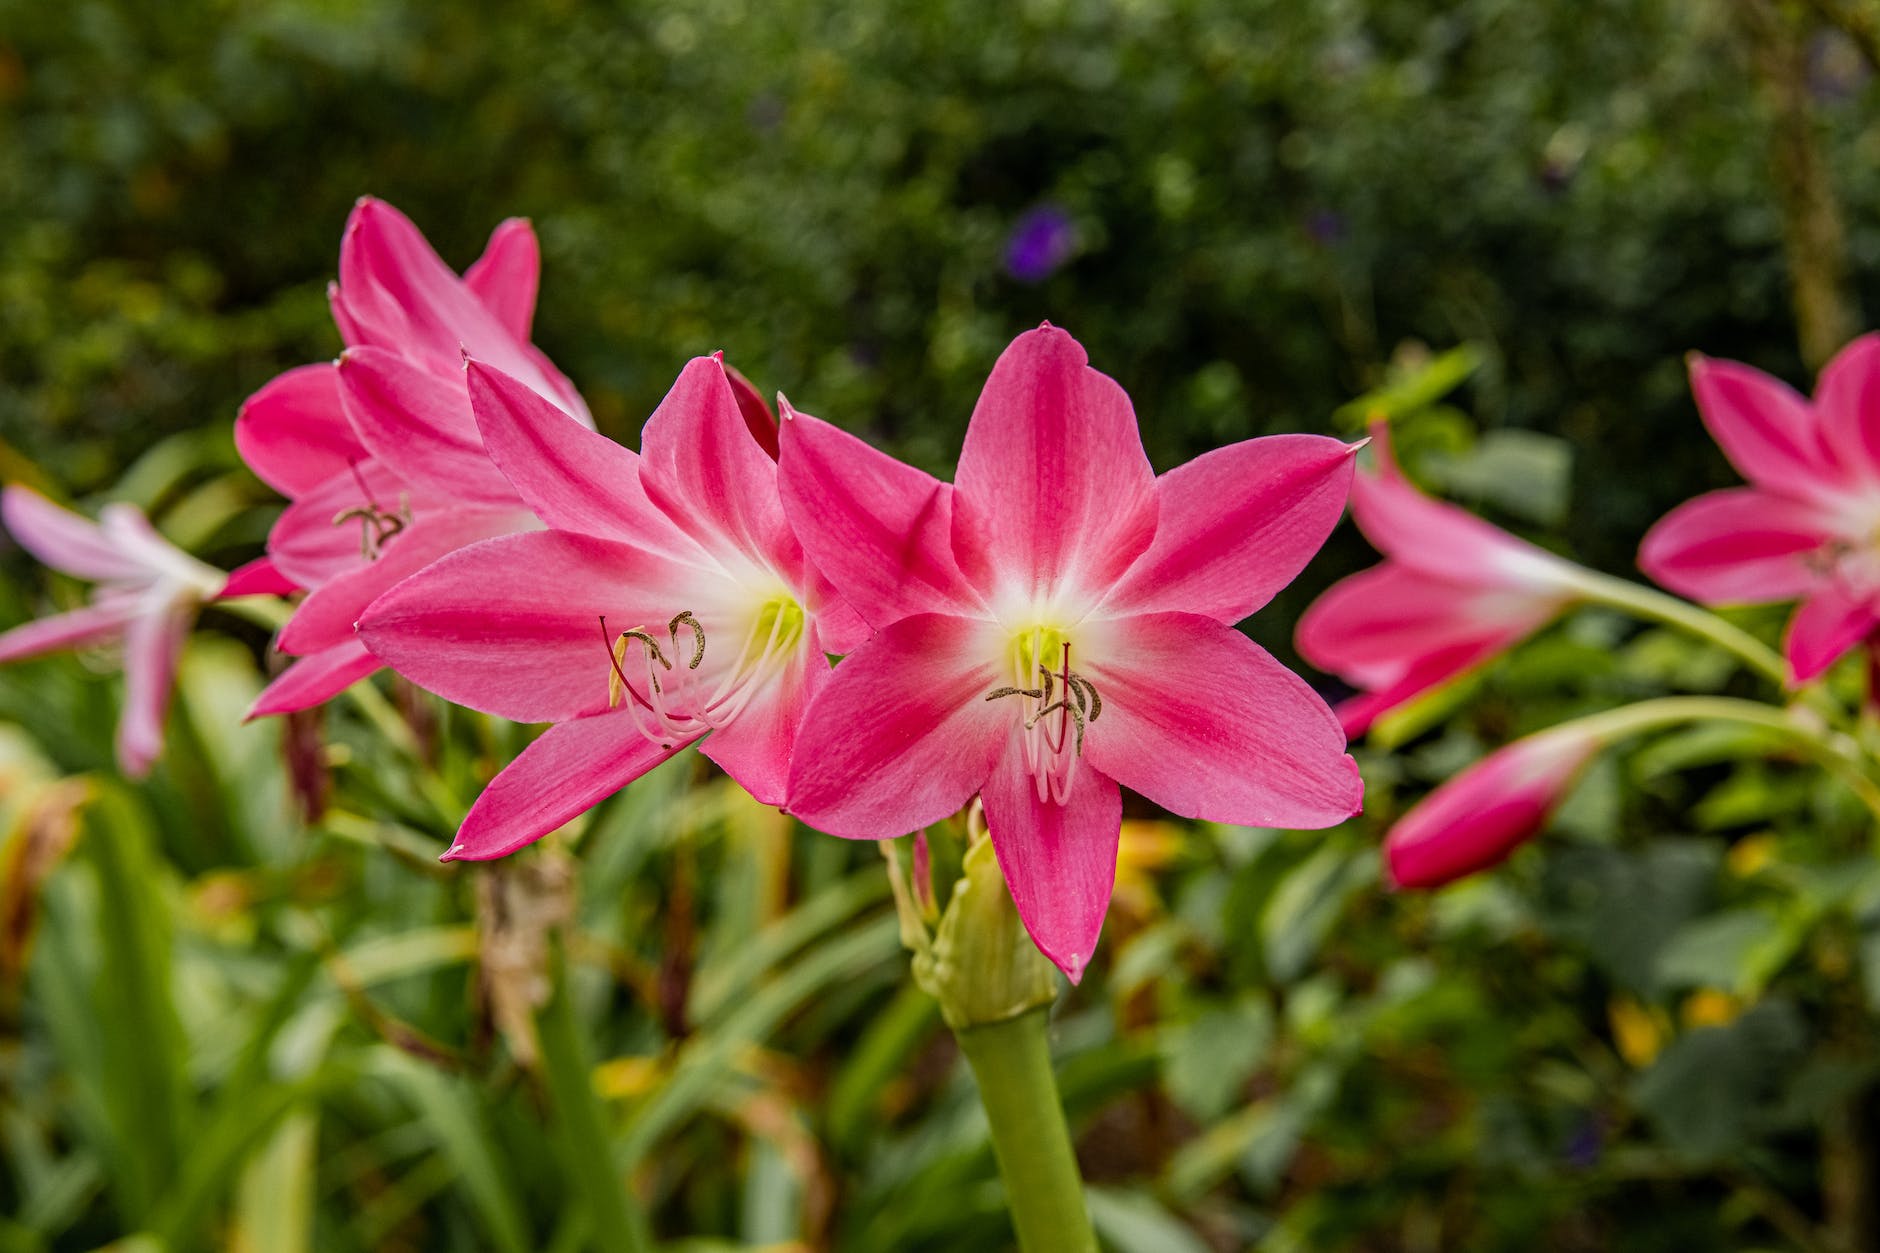
<path fill-rule="evenodd" d="M 607 709 L 609 632 L 709 617 L 699 570 L 570 531 L 502 536 L 444 557 L 372 602 L 359 638 L 412 683 L 517 722 Z"/>

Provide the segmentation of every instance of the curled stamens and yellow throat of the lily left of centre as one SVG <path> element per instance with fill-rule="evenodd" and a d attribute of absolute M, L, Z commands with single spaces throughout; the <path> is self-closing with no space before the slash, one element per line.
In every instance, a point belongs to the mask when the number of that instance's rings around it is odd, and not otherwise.
<path fill-rule="evenodd" d="M 705 666 L 705 625 L 682 610 L 664 630 L 632 626 L 613 632 L 600 619 L 607 645 L 607 707 L 624 702 L 639 734 L 671 749 L 724 726 L 752 702 L 803 640 L 803 606 L 771 596 L 750 617 L 744 642 L 728 666 Z"/>

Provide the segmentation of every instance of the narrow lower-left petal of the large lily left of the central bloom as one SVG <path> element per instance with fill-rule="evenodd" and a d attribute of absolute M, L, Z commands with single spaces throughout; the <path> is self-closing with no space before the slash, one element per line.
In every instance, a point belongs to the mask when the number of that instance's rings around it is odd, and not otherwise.
<path fill-rule="evenodd" d="M 440 860 L 487 862 L 532 845 L 682 747 L 650 743 L 622 713 L 551 726 L 491 779 Z"/>

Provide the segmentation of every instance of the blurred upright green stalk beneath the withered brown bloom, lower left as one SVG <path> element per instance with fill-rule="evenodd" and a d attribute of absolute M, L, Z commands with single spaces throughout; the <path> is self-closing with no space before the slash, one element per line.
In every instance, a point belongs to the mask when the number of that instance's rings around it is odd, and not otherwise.
<path fill-rule="evenodd" d="M 541 1071 L 560 1123 L 562 1148 L 575 1189 L 587 1200 L 592 1247 L 602 1253 L 650 1253 L 652 1236 L 637 1202 L 613 1165 L 613 1148 L 594 1095 L 594 1067 L 581 1039 L 581 1020 L 568 988 L 568 961 L 556 939 L 551 956 L 555 991 L 536 1018 Z"/>

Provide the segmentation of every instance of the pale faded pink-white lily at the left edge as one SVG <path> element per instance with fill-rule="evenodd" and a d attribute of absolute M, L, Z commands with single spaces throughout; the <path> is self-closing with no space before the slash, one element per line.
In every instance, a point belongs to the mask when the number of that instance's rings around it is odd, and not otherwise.
<path fill-rule="evenodd" d="M 86 608 L 0 634 L 0 662 L 120 642 L 124 713 L 117 758 L 128 777 L 141 779 L 164 751 L 164 711 L 196 610 L 243 591 L 158 534 L 130 504 L 107 504 L 92 523 L 28 487 L 9 485 L 0 491 L 0 521 L 45 564 L 98 583 Z"/>

